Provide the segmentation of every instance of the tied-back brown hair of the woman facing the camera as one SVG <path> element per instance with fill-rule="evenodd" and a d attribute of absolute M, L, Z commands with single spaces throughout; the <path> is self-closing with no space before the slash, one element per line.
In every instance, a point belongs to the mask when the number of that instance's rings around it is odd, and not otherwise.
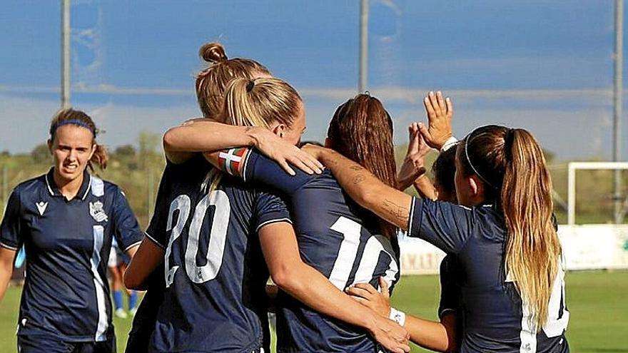
<path fill-rule="evenodd" d="M 98 168 L 101 170 L 107 168 L 107 162 L 109 160 L 107 148 L 96 143 L 96 135 L 98 135 L 100 131 L 96 128 L 96 124 L 93 123 L 91 117 L 86 113 L 83 113 L 83 111 L 78 111 L 73 108 L 64 108 L 57 111 L 50 122 L 50 140 L 54 143 L 57 128 L 68 124 L 82 126 L 83 128 L 87 128 L 91 131 L 93 136 L 92 144 L 96 145 L 96 150 L 94 150 L 91 159 L 87 162 L 89 169 L 93 171 L 93 164 L 98 165 Z"/>

